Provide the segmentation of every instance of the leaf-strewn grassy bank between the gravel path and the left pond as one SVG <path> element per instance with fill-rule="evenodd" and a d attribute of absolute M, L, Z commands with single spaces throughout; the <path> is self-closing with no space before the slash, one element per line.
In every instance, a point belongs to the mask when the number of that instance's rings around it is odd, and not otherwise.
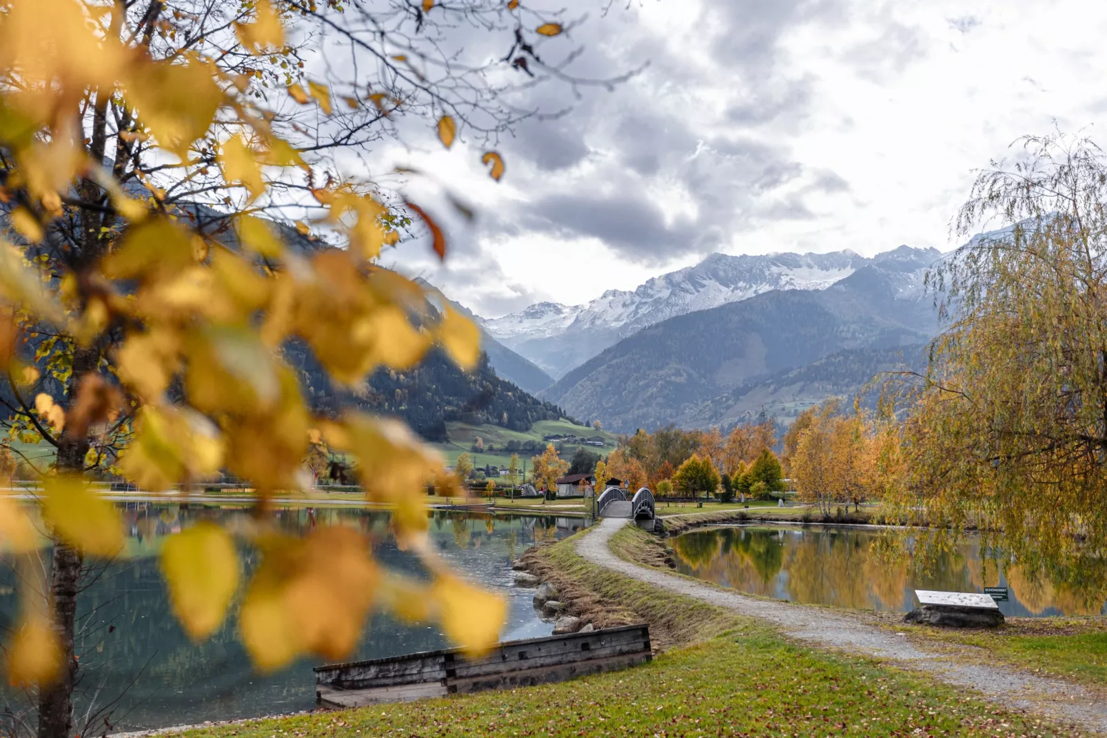
<path fill-rule="evenodd" d="M 186 736 L 1056 736 L 917 675 L 790 643 L 773 628 L 589 564 L 576 539 L 526 561 L 594 624 L 648 621 L 672 650 L 573 681 L 245 724 Z"/>

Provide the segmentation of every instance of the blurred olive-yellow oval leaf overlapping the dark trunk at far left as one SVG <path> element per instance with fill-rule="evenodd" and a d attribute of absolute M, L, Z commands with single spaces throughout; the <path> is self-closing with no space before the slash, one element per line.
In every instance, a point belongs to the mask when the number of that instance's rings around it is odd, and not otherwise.
<path fill-rule="evenodd" d="M 115 506 L 76 476 L 48 476 L 42 516 L 66 543 L 93 556 L 123 550 L 123 521 Z"/>

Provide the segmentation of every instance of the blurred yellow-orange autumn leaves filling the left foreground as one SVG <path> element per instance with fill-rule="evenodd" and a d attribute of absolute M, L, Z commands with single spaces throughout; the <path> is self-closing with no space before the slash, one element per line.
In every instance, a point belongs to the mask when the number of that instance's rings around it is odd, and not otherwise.
<path fill-rule="evenodd" d="M 86 438 L 122 418 L 126 445 L 115 471 L 153 493 L 223 470 L 250 481 L 259 514 L 252 527 L 236 532 L 240 540 L 200 524 L 164 546 L 173 609 L 194 638 L 214 633 L 239 603 L 242 639 L 266 669 L 304 654 L 346 655 L 379 607 L 438 622 L 470 649 L 489 646 L 503 623 L 503 601 L 456 577 L 423 545 L 425 488 L 445 476 L 441 457 L 397 421 L 350 411 L 314 416 L 284 358 L 291 346 L 307 347 L 331 381 L 361 388 L 374 370 L 411 369 L 434 347 L 470 367 L 479 357 L 478 330 L 448 308 L 432 308 L 417 285 L 375 263 L 399 236 L 397 218 L 369 194 L 372 187 L 321 176 L 323 167 L 317 172 L 304 152 L 275 133 L 271 112 L 242 94 L 240 75 L 189 51 L 155 60 L 137 37 L 126 41 L 120 8 L 13 0 L 0 14 L 0 73 L 22 82 L 0 88 L 0 147 L 13 161 L 0 195 L 22 203 L 18 233 L 23 243 L 37 243 L 63 215 L 74 222 L 90 212 L 111 215 L 94 254 L 59 259 L 50 269 L 0 243 L 0 303 L 28 316 L 20 318 L 24 332 L 49 326 L 73 338 L 65 346 L 108 347 L 95 369 L 70 383 L 70 397 L 39 392 L 32 418 L 43 435 L 65 438 Z M 252 3 L 234 31 L 251 53 L 284 53 L 282 19 L 271 0 Z M 288 94 L 331 115 L 330 89 L 304 84 L 290 85 Z M 383 104 L 383 98 L 370 99 Z M 118 142 L 154 152 L 153 168 L 180 181 L 208 177 L 220 195 L 245 191 L 249 208 L 272 197 L 284 170 L 302 170 L 308 186 L 301 189 L 313 197 L 311 215 L 297 224 L 303 238 L 286 244 L 281 227 L 255 209 L 208 207 L 209 219 L 224 218 L 219 227 L 205 227 L 196 204 L 173 202 L 137 172 L 124 191 L 122 180 L 104 170 L 103 153 L 90 156 L 72 114 L 95 104 L 112 105 L 124 121 L 126 130 L 113 134 Z M 453 119 L 439 121 L 438 133 L 452 145 Z M 138 156 L 137 148 L 132 153 Z M 503 175 L 497 153 L 486 153 L 483 163 L 494 178 Z M 77 182 L 102 189 L 93 211 L 72 202 Z M 229 196 L 220 202 L 234 207 Z M 413 208 L 444 257 L 444 234 Z M 312 230 L 337 243 L 309 239 Z M 430 582 L 383 571 L 356 531 L 321 527 L 296 539 L 275 530 L 267 504 L 278 491 L 302 489 L 302 460 L 313 437 L 355 464 L 371 500 L 391 505 L 397 540 L 421 555 Z M 43 525 L 32 520 L 0 498 L 7 553 L 37 555 L 43 533 L 89 556 L 112 557 L 124 547 L 118 513 L 76 475 L 46 476 Z M 240 544 L 261 553 L 249 582 Z M 8 676 L 41 684 L 58 668 L 61 650 L 49 607 L 30 596 L 23 602 L 7 644 Z"/>

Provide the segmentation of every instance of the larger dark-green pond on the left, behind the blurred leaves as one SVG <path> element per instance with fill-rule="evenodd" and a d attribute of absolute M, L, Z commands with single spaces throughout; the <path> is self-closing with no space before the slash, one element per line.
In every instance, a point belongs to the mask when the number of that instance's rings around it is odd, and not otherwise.
<path fill-rule="evenodd" d="M 90 705 L 97 710 L 118 700 L 112 708 L 112 725 L 137 729 L 312 708 L 311 667 L 321 659 L 301 659 L 277 674 L 259 676 L 239 643 L 234 617 L 211 638 L 194 644 L 169 611 L 156 555 L 165 536 L 201 520 L 227 523 L 248 514 L 247 509 L 153 502 L 121 503 L 120 508 L 130 534 L 130 558 L 102 567 L 80 598 L 77 714 L 83 715 Z M 275 514 L 283 530 L 299 534 L 314 525 L 356 525 L 377 541 L 374 555 L 384 565 L 416 575 L 422 572 L 422 564 L 400 551 L 389 535 L 387 512 L 289 506 Z M 586 520 L 444 510 L 430 515 L 432 542 L 455 571 L 508 598 L 501 639 L 551 633 L 552 625 L 540 621 L 531 605 L 532 591 L 511 586 L 510 564 L 528 546 L 570 535 Z M 0 626 L 7 631 L 17 614 L 18 596 L 11 568 L 0 568 Z M 410 625 L 375 614 L 351 659 L 448 645 L 436 626 Z M 0 697 L 4 708 L 25 701 L 10 690 Z M 94 722 L 103 725 L 100 718 Z M 4 727 L 0 717 L 0 728 Z"/>

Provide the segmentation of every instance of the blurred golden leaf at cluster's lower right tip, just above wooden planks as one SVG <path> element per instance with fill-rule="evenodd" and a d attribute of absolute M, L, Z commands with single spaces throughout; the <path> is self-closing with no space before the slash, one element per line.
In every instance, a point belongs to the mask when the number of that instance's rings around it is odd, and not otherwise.
<path fill-rule="evenodd" d="M 431 596 L 446 637 L 468 654 L 484 654 L 499 640 L 507 612 L 503 597 L 448 574 L 435 578 Z"/>

